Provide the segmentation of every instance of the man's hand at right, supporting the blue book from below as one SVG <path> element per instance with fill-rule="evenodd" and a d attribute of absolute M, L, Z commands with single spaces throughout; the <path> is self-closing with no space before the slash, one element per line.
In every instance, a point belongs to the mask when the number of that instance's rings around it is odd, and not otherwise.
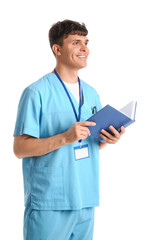
<path fill-rule="evenodd" d="M 117 143 L 121 138 L 121 136 L 125 133 L 125 128 L 123 126 L 121 126 L 120 132 L 118 132 L 113 126 L 109 126 L 109 129 L 113 132 L 114 136 L 109 132 L 105 131 L 104 129 L 102 129 L 100 133 L 101 138 L 103 138 L 106 141 L 106 143 L 109 143 L 109 144 Z"/>

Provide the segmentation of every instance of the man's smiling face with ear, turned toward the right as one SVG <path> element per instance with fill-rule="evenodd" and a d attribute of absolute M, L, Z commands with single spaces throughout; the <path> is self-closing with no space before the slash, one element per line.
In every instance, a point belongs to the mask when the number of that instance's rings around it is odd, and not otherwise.
<path fill-rule="evenodd" d="M 57 62 L 76 70 L 86 67 L 89 55 L 88 41 L 86 36 L 68 35 L 62 46 L 53 45 Z"/>

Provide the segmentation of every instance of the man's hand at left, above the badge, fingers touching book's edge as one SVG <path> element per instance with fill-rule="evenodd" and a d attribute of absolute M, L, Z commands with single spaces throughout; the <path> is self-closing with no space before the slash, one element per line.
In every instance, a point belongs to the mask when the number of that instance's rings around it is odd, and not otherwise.
<path fill-rule="evenodd" d="M 79 141 L 80 139 L 86 139 L 91 135 L 89 128 L 87 126 L 96 126 L 96 123 L 84 121 L 76 122 L 64 133 L 66 144 L 72 144 Z"/>

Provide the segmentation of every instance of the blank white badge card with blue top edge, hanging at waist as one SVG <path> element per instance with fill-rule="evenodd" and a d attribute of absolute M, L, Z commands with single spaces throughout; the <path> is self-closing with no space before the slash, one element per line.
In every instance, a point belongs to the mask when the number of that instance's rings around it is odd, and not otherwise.
<path fill-rule="evenodd" d="M 75 160 L 82 160 L 89 157 L 88 144 L 74 147 Z"/>

